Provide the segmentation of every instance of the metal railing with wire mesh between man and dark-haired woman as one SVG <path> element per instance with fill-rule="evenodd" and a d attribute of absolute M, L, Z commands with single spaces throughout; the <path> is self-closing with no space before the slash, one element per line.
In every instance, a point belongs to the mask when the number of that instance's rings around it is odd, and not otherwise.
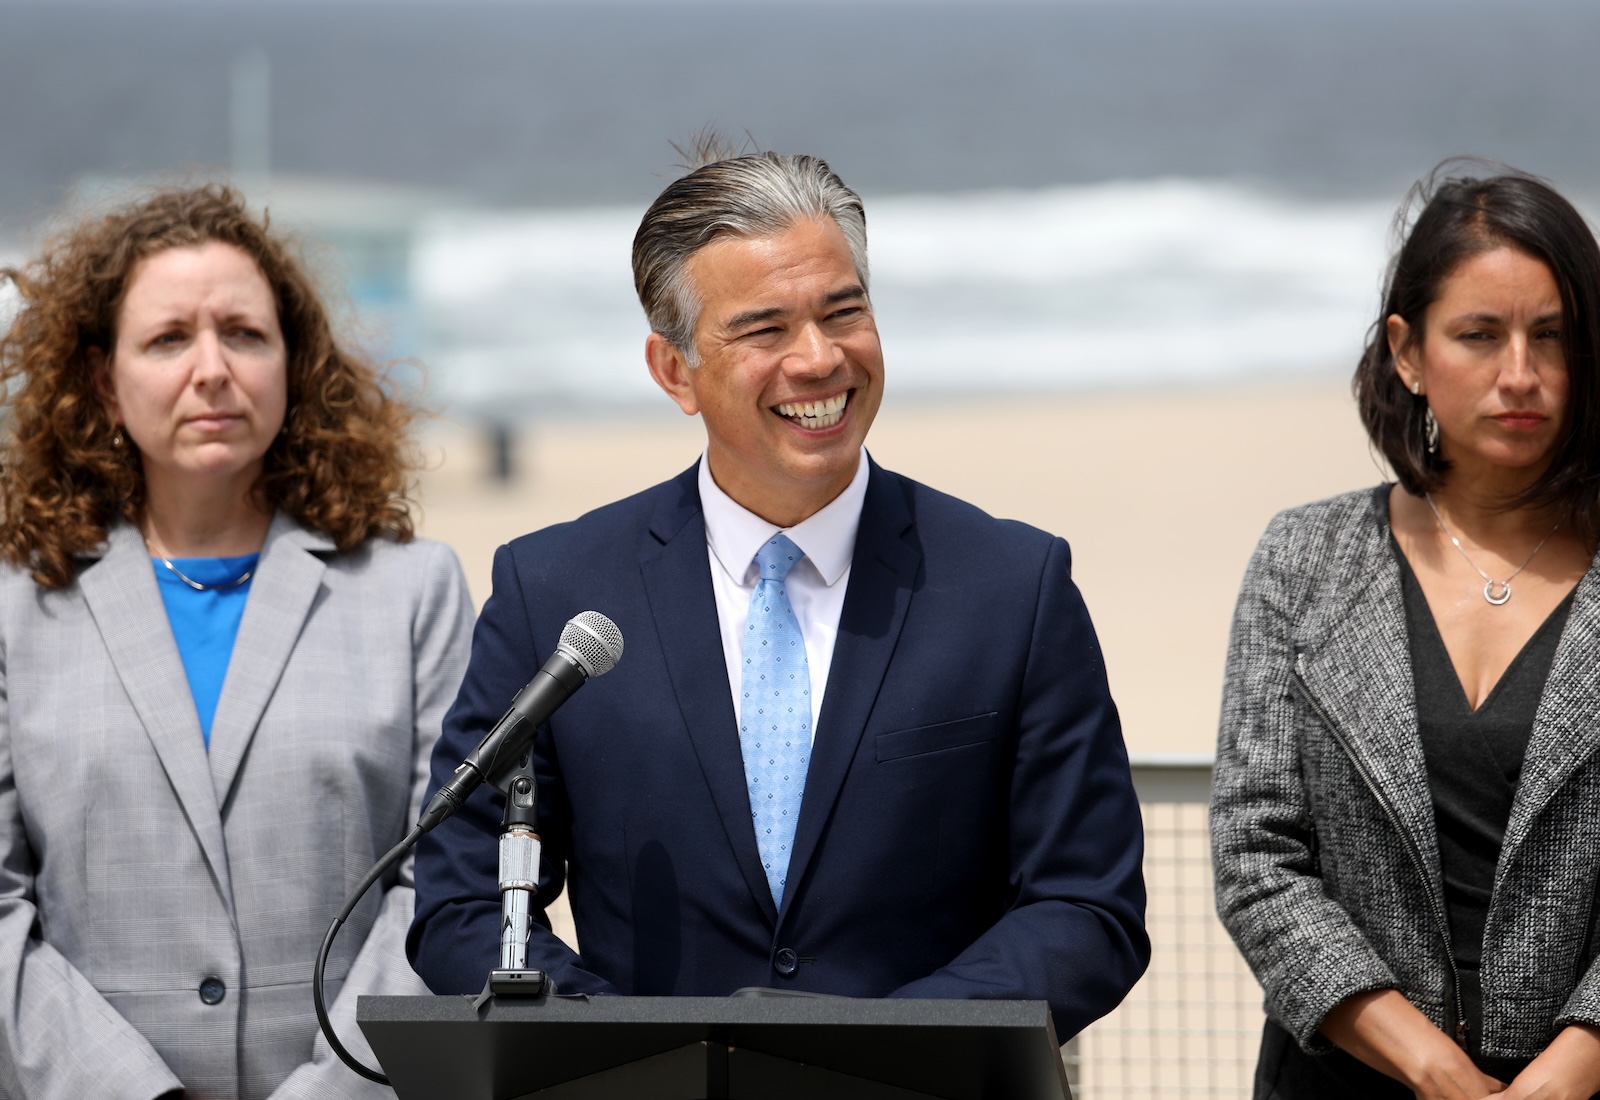
<path fill-rule="evenodd" d="M 1261 986 L 1216 919 L 1210 755 L 1134 756 L 1144 811 L 1150 969 L 1062 1049 L 1075 1100 L 1250 1095 Z"/>

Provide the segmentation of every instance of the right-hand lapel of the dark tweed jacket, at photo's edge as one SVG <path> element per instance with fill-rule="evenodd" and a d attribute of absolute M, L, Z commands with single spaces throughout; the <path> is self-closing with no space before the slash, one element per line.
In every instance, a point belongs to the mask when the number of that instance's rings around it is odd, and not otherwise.
<path fill-rule="evenodd" d="M 1578 582 L 1578 595 L 1566 616 L 1562 641 L 1544 681 L 1533 732 L 1522 758 L 1522 779 L 1512 801 L 1510 820 L 1501 843 L 1499 867 L 1528 838 L 1534 819 L 1555 791 L 1571 779 L 1600 748 L 1600 665 L 1595 664 L 1595 641 L 1600 640 L 1600 555 Z M 1496 879 L 1499 875 L 1496 873 Z"/>

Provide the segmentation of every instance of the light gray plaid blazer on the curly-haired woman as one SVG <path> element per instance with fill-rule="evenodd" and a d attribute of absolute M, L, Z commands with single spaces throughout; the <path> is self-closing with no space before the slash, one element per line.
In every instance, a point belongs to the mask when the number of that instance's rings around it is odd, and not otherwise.
<path fill-rule="evenodd" d="M 446 547 L 277 516 L 208 753 L 136 528 L 67 588 L 0 571 L 0 1095 L 394 1095 L 317 1034 L 310 970 L 416 819 L 470 619 Z M 406 867 L 328 964 L 368 1065 L 355 994 L 426 991 L 410 923 Z"/>

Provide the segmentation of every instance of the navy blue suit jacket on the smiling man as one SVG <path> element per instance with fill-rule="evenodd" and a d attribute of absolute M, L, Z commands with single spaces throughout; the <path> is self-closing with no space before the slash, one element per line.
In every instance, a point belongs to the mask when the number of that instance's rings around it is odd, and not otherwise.
<path fill-rule="evenodd" d="M 600 611 L 618 667 L 539 731 L 536 902 L 571 891 L 563 991 L 1045 999 L 1066 1039 L 1149 961 L 1142 833 L 1067 544 L 874 465 L 789 886 L 755 849 L 691 468 L 494 558 L 434 790 Z M 413 964 L 475 993 L 499 958 L 501 799 L 418 847 Z"/>

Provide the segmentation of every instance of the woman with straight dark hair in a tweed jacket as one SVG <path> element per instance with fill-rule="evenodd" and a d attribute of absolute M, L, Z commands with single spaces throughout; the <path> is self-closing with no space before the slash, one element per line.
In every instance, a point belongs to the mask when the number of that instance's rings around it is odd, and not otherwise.
<path fill-rule="evenodd" d="M 1398 484 L 1278 515 L 1240 592 L 1218 911 L 1256 1097 L 1589 1097 L 1600 248 L 1522 174 L 1413 198 L 1355 374 Z"/>

